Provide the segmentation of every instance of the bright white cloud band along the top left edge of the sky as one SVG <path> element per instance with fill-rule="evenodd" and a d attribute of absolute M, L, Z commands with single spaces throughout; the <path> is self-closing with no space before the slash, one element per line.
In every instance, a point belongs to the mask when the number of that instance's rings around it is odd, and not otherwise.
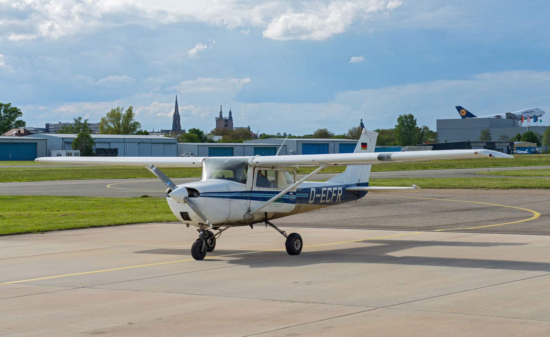
<path fill-rule="evenodd" d="M 154 28 L 178 21 L 200 21 L 229 30 L 247 25 L 262 27 L 263 36 L 274 40 L 324 40 L 344 32 L 357 19 L 365 20 L 375 12 L 400 5 L 400 0 L 3 0 L 0 38 L 58 38 L 95 27 L 138 24 Z"/>

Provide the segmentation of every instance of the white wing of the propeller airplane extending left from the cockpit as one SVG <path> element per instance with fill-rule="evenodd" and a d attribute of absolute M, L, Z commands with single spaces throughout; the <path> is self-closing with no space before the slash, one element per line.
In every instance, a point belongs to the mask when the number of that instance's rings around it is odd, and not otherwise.
<path fill-rule="evenodd" d="M 202 167 L 204 158 L 206 157 L 40 157 L 35 161 L 47 164 Z"/>

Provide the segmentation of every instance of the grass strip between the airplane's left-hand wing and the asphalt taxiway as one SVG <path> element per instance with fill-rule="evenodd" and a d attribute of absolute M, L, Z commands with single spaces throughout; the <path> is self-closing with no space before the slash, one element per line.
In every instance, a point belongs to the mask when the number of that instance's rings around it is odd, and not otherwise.
<path fill-rule="evenodd" d="M 172 178 L 185 178 L 200 176 L 201 168 L 163 168 L 162 172 Z M 154 177 L 146 168 L 126 166 L 0 168 L 0 182 Z"/>

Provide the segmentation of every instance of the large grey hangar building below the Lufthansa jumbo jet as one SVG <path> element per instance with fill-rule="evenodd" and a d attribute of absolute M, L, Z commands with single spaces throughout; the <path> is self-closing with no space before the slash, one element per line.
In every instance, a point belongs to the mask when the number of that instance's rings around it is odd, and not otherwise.
<path fill-rule="evenodd" d="M 524 134 L 526 131 L 538 132 L 542 135 L 544 130 L 546 130 L 546 126 L 519 126 L 518 120 L 512 118 L 437 120 L 437 133 L 439 141 L 442 142 L 445 140 L 447 142 L 474 141 L 480 136 L 482 129 L 489 129 L 493 140 L 497 140 L 502 135 L 514 137 L 516 134 Z M 436 150 L 436 148 L 434 147 L 433 150 Z"/>

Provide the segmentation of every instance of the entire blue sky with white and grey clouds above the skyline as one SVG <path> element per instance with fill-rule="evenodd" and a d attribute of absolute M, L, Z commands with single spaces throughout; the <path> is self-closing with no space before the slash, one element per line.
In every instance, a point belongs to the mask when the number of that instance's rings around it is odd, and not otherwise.
<path fill-rule="evenodd" d="M 548 1 L 0 0 L 0 102 L 27 125 L 133 105 L 147 130 L 337 134 L 550 111 Z M 543 123 L 545 124 L 545 123 Z"/>

